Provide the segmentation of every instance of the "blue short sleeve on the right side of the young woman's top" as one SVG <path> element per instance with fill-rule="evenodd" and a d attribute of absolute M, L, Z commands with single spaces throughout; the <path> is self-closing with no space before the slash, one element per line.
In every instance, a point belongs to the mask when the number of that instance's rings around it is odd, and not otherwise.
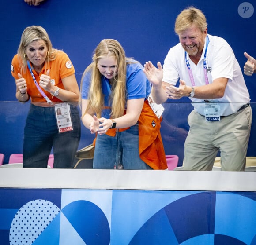
<path fill-rule="evenodd" d="M 143 73 L 143 70 L 138 65 L 136 66 L 136 69 L 133 69 L 132 65 L 127 68 L 127 100 L 140 98 L 146 99 L 150 94 L 150 83 Z"/>

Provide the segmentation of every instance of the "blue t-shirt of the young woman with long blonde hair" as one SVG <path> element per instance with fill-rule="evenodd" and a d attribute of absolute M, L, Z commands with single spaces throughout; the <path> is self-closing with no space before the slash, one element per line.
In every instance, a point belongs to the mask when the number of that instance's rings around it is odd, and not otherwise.
<path fill-rule="evenodd" d="M 136 62 L 132 60 L 132 62 Z M 82 99 L 88 99 L 88 93 L 90 89 L 90 77 L 91 71 L 88 71 L 83 77 L 83 85 L 81 96 Z M 105 106 L 111 107 L 111 102 L 109 102 L 109 96 L 111 94 L 111 85 L 109 84 L 109 79 L 101 76 L 102 80 L 102 92 L 104 94 Z M 129 99 L 147 99 L 151 92 L 151 84 L 147 80 L 146 75 L 143 73 L 143 66 L 139 63 L 127 64 L 126 68 L 126 102 Z M 102 112 L 102 117 L 109 118 L 110 111 L 108 110 Z"/>

